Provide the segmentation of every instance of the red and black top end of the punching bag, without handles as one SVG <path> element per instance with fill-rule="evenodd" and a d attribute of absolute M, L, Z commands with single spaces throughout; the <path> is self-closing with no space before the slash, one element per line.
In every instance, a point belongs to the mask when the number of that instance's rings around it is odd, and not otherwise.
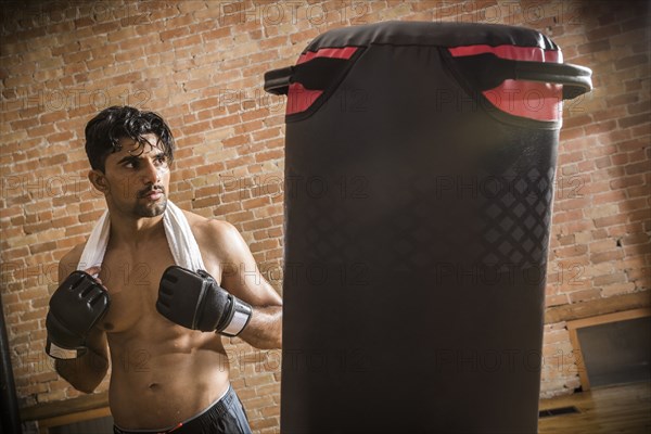
<path fill-rule="evenodd" d="M 297 65 L 317 58 L 349 60 L 373 44 L 436 46 L 454 58 L 490 53 L 514 61 L 561 63 L 559 47 L 539 31 L 514 26 L 474 23 L 386 22 L 327 31 L 312 40 Z M 486 74 L 490 74 L 489 69 Z M 556 122 L 562 114 L 559 84 L 506 79 L 483 95 L 498 110 L 536 120 Z M 286 114 L 305 112 L 323 93 L 299 82 L 289 87 Z"/>

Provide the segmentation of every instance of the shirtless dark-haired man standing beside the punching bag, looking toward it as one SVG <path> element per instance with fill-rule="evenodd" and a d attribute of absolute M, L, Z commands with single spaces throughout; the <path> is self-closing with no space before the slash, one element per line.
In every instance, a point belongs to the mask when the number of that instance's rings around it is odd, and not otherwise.
<path fill-rule="evenodd" d="M 76 301 L 55 303 L 58 292 L 65 294 L 63 286 L 53 294 L 48 314 L 49 354 L 54 353 L 50 353 L 50 340 L 65 342 L 71 335 L 81 335 L 81 346 L 87 347 L 75 358 L 58 359 L 56 371 L 75 388 L 92 393 L 111 360 L 108 394 L 115 433 L 251 432 L 229 383 L 220 334 L 179 326 L 156 308 L 161 278 L 175 264 L 163 225 L 174 157 L 169 128 L 154 113 L 110 107 L 88 123 L 86 141 L 92 167 L 89 179 L 104 194 L 111 222 L 101 268 L 86 271 L 99 272 L 89 284 L 99 282 L 92 291 L 104 298 L 95 297 L 95 302 L 107 301 L 107 307 L 89 320 L 90 331 L 62 331 L 52 318 L 61 322 L 80 318 L 88 314 L 88 306 L 79 308 Z M 238 230 L 225 221 L 183 214 L 205 271 L 228 291 L 219 294 L 230 293 L 233 301 L 252 308 L 239 336 L 257 348 L 280 348 L 281 297 L 260 276 Z M 60 284 L 76 270 L 84 246 L 61 259 Z M 212 294 L 225 291 L 216 285 L 209 290 Z M 184 295 L 180 291 L 175 296 L 179 294 Z"/>

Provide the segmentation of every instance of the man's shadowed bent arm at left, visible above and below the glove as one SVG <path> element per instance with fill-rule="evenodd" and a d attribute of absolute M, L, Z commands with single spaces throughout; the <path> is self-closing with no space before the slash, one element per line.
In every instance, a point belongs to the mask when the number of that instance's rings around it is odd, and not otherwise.
<path fill-rule="evenodd" d="M 59 284 L 61 285 L 67 276 L 74 271 L 75 251 L 65 255 L 59 263 Z M 78 259 L 78 258 L 77 258 Z M 99 270 L 87 270 L 89 273 Z M 73 387 L 85 393 L 92 393 L 102 382 L 108 370 L 108 350 L 106 334 L 94 328 L 87 339 L 88 350 L 81 357 L 75 359 L 56 359 L 54 369 Z"/>

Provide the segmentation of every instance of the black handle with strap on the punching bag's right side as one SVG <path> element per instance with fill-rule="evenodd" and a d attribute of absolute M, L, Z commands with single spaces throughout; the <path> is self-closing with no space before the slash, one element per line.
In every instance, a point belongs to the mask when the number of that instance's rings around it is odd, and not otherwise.
<path fill-rule="evenodd" d="M 494 89 L 506 79 L 563 85 L 563 100 L 592 90 L 592 71 L 570 63 L 514 61 L 492 53 L 457 56 L 451 61 L 478 90 Z"/>

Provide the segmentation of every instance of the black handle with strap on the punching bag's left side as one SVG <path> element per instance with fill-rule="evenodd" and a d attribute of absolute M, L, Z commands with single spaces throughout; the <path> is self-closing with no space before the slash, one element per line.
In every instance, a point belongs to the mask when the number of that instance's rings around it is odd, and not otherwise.
<path fill-rule="evenodd" d="M 315 58 L 308 62 L 265 73 L 265 91 L 288 94 L 293 82 L 309 90 L 324 90 L 340 75 L 348 61 L 337 58 Z"/>

